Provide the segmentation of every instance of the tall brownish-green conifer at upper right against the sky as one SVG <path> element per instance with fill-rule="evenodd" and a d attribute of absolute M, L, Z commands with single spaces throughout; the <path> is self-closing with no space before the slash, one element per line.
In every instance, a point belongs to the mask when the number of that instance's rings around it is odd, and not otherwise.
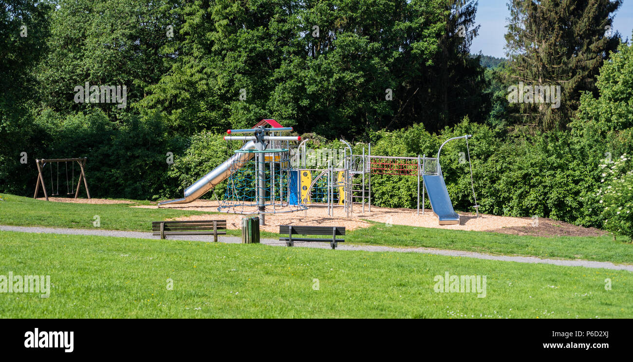
<path fill-rule="evenodd" d="M 517 87 L 509 89 L 508 99 L 518 103 L 520 121 L 546 130 L 564 128 L 579 106 L 581 92 L 596 92 L 598 70 L 619 43 L 620 35 L 610 30 L 613 12 L 621 4 L 622 0 L 508 4 L 507 81 Z M 536 94 L 534 86 L 539 87 Z"/>

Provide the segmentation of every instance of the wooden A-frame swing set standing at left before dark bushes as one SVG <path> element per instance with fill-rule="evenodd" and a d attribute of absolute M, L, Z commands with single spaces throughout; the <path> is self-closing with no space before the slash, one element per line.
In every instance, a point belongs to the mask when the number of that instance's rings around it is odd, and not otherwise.
<path fill-rule="evenodd" d="M 65 173 L 66 173 L 66 196 L 75 195 L 75 199 L 79 196 L 79 187 L 81 186 L 82 180 L 84 180 L 85 193 L 88 198 L 90 198 L 90 191 L 88 190 L 88 182 L 85 180 L 85 163 L 87 158 L 55 158 L 55 159 L 35 159 L 35 163 L 37 164 L 37 182 L 35 183 L 35 194 L 33 196 L 34 199 L 37 199 L 37 194 L 39 192 L 39 187 L 42 185 L 42 190 L 44 191 L 44 197 L 46 197 L 46 201 L 48 200 L 48 193 L 46 192 L 46 184 L 44 183 L 44 170 L 46 170 L 46 165 L 49 165 L 49 173 L 51 174 L 51 191 L 53 194 L 51 196 L 58 196 L 60 194 L 60 163 L 64 163 Z M 77 187 L 75 187 L 75 162 L 79 165 L 79 175 L 77 180 Z M 56 164 L 56 180 L 57 185 L 53 182 L 53 163 Z M 71 170 L 71 181 L 68 183 L 68 163 L 70 163 Z M 63 170 L 63 169 L 62 169 Z M 57 186 L 57 187 L 55 187 Z"/>

